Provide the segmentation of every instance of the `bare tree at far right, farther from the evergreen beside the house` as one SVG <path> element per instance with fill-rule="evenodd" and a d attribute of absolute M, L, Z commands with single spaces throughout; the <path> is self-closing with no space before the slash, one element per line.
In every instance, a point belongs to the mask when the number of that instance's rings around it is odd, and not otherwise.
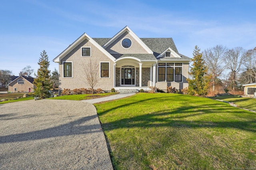
<path fill-rule="evenodd" d="M 225 54 L 225 64 L 226 68 L 230 70 L 230 78 L 232 80 L 233 90 L 236 86 L 236 75 L 242 67 L 242 63 L 246 56 L 246 51 L 242 47 L 235 47 L 230 49 Z"/>

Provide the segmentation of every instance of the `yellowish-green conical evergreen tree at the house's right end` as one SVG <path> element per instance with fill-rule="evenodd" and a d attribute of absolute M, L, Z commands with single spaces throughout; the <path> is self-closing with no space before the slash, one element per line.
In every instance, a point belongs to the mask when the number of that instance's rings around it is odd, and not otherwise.
<path fill-rule="evenodd" d="M 188 94 L 194 95 L 198 94 L 200 96 L 207 94 L 207 89 L 209 85 L 209 78 L 207 76 L 207 67 L 204 63 L 202 53 L 200 49 L 196 46 L 193 52 L 193 64 L 190 69 L 188 78 Z"/>

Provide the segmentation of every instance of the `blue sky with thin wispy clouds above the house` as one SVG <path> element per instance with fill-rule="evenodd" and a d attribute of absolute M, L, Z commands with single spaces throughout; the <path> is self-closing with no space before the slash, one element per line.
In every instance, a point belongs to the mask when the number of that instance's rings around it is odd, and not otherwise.
<path fill-rule="evenodd" d="M 255 0 L 12 0 L 0 5 L 0 70 L 38 69 L 40 52 L 52 60 L 80 35 L 111 38 L 126 25 L 140 38 L 172 37 L 193 57 L 216 45 L 256 47 Z"/>

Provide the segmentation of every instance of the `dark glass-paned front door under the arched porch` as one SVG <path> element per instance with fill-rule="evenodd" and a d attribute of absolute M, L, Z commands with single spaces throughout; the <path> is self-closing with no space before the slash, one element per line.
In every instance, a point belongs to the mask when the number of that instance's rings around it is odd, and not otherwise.
<path fill-rule="evenodd" d="M 122 68 L 121 84 L 134 85 L 135 83 L 135 69 L 134 68 Z"/>

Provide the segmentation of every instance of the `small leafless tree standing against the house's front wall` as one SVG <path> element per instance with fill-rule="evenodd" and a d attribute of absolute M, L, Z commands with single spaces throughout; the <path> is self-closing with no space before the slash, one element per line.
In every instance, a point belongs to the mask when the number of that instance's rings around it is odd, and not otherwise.
<path fill-rule="evenodd" d="M 85 82 L 90 86 L 90 88 L 92 88 L 92 96 L 93 96 L 94 88 L 100 80 L 99 79 L 100 66 L 98 63 L 90 60 L 88 63 L 83 64 L 83 67 L 84 67 Z"/>

